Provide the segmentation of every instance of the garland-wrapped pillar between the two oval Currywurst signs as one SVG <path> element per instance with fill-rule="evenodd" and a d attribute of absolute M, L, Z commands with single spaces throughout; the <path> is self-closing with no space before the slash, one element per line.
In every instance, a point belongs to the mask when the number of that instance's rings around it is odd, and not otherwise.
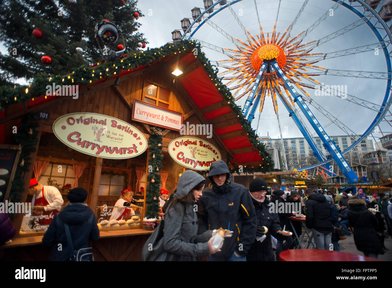
<path fill-rule="evenodd" d="M 156 127 L 151 127 L 152 134 L 150 136 L 150 160 L 149 160 L 149 172 L 150 175 L 147 176 L 147 180 L 150 182 L 147 186 L 146 193 L 146 217 L 149 218 L 157 218 L 158 219 L 158 211 L 159 211 L 159 192 L 160 192 L 160 183 L 161 176 L 157 174 L 158 171 L 162 170 L 162 130 Z"/>

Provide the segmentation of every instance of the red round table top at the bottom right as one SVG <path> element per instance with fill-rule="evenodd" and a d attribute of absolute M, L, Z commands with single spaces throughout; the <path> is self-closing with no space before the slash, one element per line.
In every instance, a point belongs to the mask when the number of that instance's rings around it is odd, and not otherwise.
<path fill-rule="evenodd" d="M 379 261 L 361 255 L 318 249 L 292 249 L 279 254 L 282 261 Z"/>

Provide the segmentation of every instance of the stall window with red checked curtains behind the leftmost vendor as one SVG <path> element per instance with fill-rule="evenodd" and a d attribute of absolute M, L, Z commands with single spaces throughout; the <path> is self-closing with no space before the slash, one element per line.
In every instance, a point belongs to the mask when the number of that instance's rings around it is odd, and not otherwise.
<path fill-rule="evenodd" d="M 38 178 L 38 183 L 47 186 L 48 178 L 52 181 L 51 186 L 59 185 L 62 187 L 65 184 L 71 184 L 73 186 L 75 183 L 73 166 L 49 163 L 40 178 Z"/>

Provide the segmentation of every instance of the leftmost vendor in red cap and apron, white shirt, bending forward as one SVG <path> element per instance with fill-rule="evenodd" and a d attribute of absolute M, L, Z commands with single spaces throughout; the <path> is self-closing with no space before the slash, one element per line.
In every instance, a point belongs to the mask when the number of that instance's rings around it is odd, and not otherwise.
<path fill-rule="evenodd" d="M 38 216 L 38 223 L 40 225 L 49 225 L 54 215 L 60 212 L 61 206 L 64 204 L 60 191 L 53 186 L 38 184 L 37 180 L 33 178 L 30 180 L 27 193 L 33 196 L 31 201 L 33 214 Z"/>

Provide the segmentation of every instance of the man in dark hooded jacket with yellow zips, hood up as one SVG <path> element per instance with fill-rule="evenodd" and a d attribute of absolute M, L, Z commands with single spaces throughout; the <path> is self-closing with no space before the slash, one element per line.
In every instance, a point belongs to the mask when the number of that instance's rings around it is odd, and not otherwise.
<path fill-rule="evenodd" d="M 211 183 L 198 201 L 199 234 L 220 227 L 234 233 L 225 240 L 222 251 L 207 257 L 207 261 L 246 261 L 257 222 L 249 190 L 230 180 L 229 168 L 222 160 L 211 164 L 208 177 Z"/>

